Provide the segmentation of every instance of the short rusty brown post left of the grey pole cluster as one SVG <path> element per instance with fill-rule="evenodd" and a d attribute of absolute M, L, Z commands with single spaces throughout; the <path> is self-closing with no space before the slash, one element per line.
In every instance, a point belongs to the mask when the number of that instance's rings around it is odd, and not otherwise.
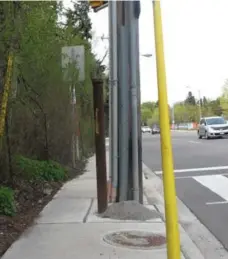
<path fill-rule="evenodd" d="M 107 172 L 104 130 L 103 80 L 93 79 L 98 213 L 107 208 Z"/>

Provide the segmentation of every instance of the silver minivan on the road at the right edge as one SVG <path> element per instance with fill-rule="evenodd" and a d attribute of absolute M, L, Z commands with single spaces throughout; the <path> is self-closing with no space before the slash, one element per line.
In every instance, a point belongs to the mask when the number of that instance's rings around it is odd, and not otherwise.
<path fill-rule="evenodd" d="M 228 123 L 223 117 L 205 117 L 200 120 L 198 138 L 218 138 L 228 135 Z"/>

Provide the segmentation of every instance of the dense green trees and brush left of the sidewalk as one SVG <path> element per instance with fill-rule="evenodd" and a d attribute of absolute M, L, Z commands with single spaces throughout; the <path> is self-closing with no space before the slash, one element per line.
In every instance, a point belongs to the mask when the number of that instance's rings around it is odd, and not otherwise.
<path fill-rule="evenodd" d="M 0 14 L 1 78 L 5 77 L 9 50 L 14 56 L 6 114 L 8 126 L 0 150 L 0 181 L 11 181 L 17 173 L 11 164 L 11 157 L 16 154 L 43 161 L 38 166 L 35 160 L 23 160 L 24 164 L 39 170 L 43 166 L 51 171 L 53 164 L 48 161 L 74 167 L 79 159 L 84 160 L 94 150 L 91 75 L 95 70 L 101 75 L 104 72 L 102 62 L 91 51 L 89 5 L 76 1 L 72 9 L 65 10 L 57 1 L 1 2 Z M 78 81 L 75 64 L 64 70 L 68 78 L 63 80 L 61 49 L 76 45 L 85 48 L 84 82 Z M 72 106 L 73 88 L 76 107 Z M 74 158 L 72 146 L 76 133 L 79 154 Z M 38 169 L 34 170 L 40 175 Z"/>

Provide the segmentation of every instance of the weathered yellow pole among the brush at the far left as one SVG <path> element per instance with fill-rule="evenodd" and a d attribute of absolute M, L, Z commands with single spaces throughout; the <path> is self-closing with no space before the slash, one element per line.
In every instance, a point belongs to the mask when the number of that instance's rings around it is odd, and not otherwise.
<path fill-rule="evenodd" d="M 12 69 L 13 69 L 13 55 L 10 54 L 8 58 L 6 78 L 5 78 L 4 90 L 2 94 L 2 100 L 1 100 L 0 137 L 3 136 L 4 128 L 5 128 L 6 110 L 7 110 L 8 98 L 9 98 Z"/>

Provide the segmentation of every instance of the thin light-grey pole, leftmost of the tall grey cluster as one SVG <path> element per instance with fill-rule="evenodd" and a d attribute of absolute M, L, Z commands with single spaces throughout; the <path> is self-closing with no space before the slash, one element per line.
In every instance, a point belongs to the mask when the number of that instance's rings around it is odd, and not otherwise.
<path fill-rule="evenodd" d="M 110 109 L 110 176 L 113 188 L 118 181 L 118 78 L 117 78 L 117 3 L 109 1 L 109 109 Z"/>

